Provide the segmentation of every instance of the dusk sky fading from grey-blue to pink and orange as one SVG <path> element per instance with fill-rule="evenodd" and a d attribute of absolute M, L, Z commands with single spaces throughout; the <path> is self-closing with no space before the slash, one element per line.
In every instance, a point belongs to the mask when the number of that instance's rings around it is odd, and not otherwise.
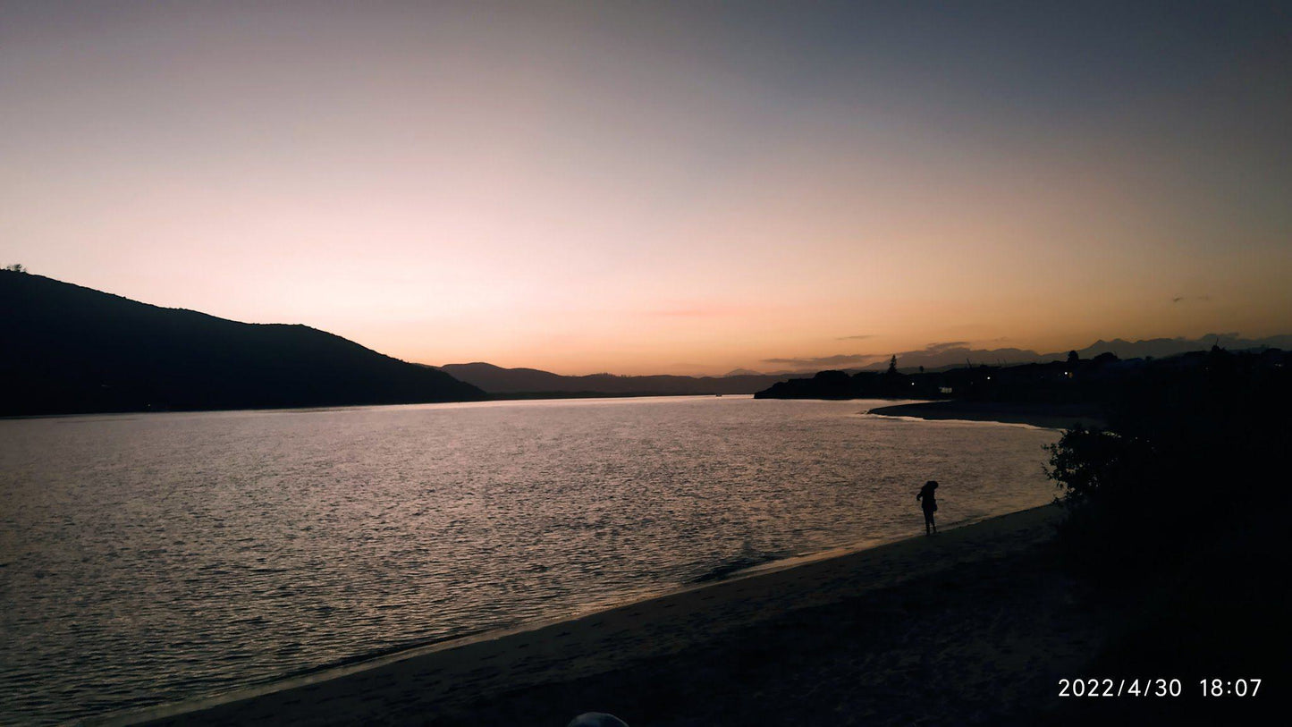
<path fill-rule="evenodd" d="M 1288 129 L 1282 3 L 0 0 L 0 265 L 568 374 L 1261 337 Z"/>

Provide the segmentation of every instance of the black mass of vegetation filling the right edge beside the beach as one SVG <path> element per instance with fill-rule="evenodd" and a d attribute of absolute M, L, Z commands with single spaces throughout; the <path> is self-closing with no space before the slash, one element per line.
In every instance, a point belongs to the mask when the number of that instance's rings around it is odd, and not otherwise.
<path fill-rule="evenodd" d="M 1050 448 L 1068 510 L 1059 551 L 1123 613 L 1089 675 L 1183 681 L 1185 700 L 1123 702 L 1121 717 L 1203 709 L 1238 723 L 1236 697 L 1200 697 L 1203 678 L 1261 678 L 1266 704 L 1286 695 L 1289 365 L 1282 351 L 1213 347 L 1142 367 L 1112 390 L 1106 430 Z"/>

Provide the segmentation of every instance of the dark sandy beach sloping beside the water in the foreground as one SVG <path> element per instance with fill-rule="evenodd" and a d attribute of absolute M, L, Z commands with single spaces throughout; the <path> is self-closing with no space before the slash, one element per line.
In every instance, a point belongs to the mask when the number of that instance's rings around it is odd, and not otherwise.
<path fill-rule="evenodd" d="M 1025 510 L 112 723 L 561 727 L 583 712 L 633 727 L 1027 723 L 1102 639 L 1052 564 L 1059 514 Z"/>

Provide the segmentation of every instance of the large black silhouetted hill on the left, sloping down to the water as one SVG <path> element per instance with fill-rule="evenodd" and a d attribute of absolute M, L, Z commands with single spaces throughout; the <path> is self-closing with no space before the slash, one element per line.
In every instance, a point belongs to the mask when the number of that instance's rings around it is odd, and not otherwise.
<path fill-rule="evenodd" d="M 163 309 L 0 271 L 0 415 L 483 399 L 447 373 L 306 325 Z"/>

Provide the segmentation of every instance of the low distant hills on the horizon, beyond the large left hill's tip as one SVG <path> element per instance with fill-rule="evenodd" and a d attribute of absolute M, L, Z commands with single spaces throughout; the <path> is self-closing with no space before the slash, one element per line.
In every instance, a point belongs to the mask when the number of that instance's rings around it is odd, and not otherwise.
<path fill-rule="evenodd" d="M 501 368 L 487 363 L 439 367 L 490 394 L 753 394 L 788 376 L 561 376 L 536 368 Z"/>

